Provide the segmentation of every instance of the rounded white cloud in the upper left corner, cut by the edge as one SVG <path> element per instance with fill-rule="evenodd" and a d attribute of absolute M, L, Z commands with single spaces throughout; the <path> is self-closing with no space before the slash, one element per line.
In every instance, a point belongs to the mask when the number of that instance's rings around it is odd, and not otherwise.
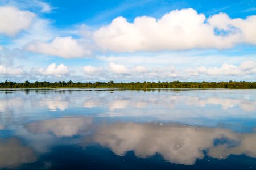
<path fill-rule="evenodd" d="M 20 11 L 16 7 L 0 7 L 0 33 L 15 36 L 18 32 L 30 27 L 35 17 L 30 11 Z"/>

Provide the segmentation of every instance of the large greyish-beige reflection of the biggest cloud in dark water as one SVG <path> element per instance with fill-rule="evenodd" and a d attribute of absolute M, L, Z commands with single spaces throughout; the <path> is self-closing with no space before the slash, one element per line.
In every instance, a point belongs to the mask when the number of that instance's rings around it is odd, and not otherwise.
<path fill-rule="evenodd" d="M 238 134 L 221 128 L 119 123 L 102 126 L 93 138 L 117 155 L 130 150 L 142 157 L 160 153 L 171 163 L 185 165 L 193 165 L 205 155 L 218 159 L 226 158 L 228 154 L 256 156 L 255 133 Z M 215 140 L 221 139 L 227 142 L 214 145 Z"/>

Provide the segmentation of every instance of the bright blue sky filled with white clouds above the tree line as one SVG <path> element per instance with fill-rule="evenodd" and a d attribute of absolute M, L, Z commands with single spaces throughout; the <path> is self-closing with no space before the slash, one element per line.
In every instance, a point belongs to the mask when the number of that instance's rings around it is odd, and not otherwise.
<path fill-rule="evenodd" d="M 255 82 L 255 30 L 254 0 L 0 0 L 0 82 Z"/>

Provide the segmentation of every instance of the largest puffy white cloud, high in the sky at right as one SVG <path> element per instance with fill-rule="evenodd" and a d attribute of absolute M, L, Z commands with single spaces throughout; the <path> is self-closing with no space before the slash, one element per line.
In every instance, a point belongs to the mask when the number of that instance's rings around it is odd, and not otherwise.
<path fill-rule="evenodd" d="M 206 18 L 192 8 L 174 10 L 160 19 L 142 16 L 127 22 L 123 17 L 101 27 L 93 39 L 104 50 L 135 52 L 230 48 L 239 43 L 256 45 L 256 16 L 230 19 L 227 14 Z"/>

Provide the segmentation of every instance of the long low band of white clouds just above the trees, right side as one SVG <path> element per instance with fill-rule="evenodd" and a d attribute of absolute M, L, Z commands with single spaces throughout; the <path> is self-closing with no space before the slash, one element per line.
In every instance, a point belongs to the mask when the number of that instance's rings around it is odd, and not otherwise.
<path fill-rule="evenodd" d="M 131 63 L 126 64 L 124 61 L 119 61 L 120 63 L 110 62 L 109 67 L 92 67 L 84 66 L 83 71 L 86 75 L 100 75 L 102 78 L 109 79 L 114 77 L 115 79 L 131 80 L 131 81 L 141 81 L 141 80 L 175 80 L 181 79 L 188 81 L 188 78 L 202 79 L 204 76 L 210 78 L 218 78 L 224 80 L 230 80 L 233 78 L 253 78 L 256 73 L 256 62 L 253 60 L 244 60 L 240 64 L 230 64 L 223 63 L 221 66 L 207 67 L 197 64 L 197 67 L 189 67 L 187 65 L 179 64 L 174 65 L 134 65 Z M 225 62 L 225 61 L 224 61 Z M 232 61 L 228 61 L 231 62 Z M 162 66 L 161 66 L 162 65 Z M 205 79 L 203 79 L 205 80 Z M 217 80 L 218 81 L 218 80 Z"/>

